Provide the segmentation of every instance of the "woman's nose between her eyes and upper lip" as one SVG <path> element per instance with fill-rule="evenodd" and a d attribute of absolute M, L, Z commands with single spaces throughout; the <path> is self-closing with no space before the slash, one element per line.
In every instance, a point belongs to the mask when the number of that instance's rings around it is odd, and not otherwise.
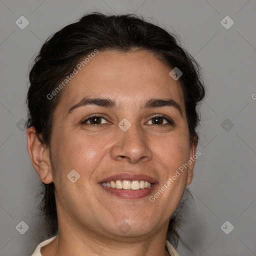
<path fill-rule="evenodd" d="M 136 163 L 152 158 L 152 151 L 147 146 L 148 138 L 138 127 L 131 125 L 126 131 L 119 129 L 117 132 L 110 151 L 114 160 Z"/>

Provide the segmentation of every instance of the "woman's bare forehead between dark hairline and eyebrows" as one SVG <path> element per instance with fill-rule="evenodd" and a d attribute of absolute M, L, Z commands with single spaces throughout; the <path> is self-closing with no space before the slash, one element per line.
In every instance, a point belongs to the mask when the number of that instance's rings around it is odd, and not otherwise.
<path fill-rule="evenodd" d="M 170 70 L 150 51 L 98 52 L 65 85 L 59 105 L 67 108 L 83 97 L 107 97 L 119 107 L 139 107 L 157 97 L 172 98 L 183 108 L 181 85 Z"/>

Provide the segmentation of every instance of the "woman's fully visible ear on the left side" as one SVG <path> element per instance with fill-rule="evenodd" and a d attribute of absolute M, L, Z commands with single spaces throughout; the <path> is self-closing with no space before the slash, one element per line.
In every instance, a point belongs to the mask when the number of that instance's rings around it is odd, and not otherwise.
<path fill-rule="evenodd" d="M 32 165 L 45 184 L 52 182 L 49 149 L 41 143 L 33 126 L 26 130 L 27 151 Z"/>

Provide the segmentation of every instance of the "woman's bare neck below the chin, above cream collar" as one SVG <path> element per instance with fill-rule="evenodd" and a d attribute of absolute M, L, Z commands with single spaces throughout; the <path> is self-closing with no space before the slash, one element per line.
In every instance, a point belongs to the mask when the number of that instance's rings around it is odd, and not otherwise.
<path fill-rule="evenodd" d="M 41 248 L 41 254 L 42 256 L 48 254 L 115 256 L 120 255 L 121 252 L 124 256 L 167 256 L 169 255 L 165 248 L 167 224 L 153 234 L 119 237 L 105 234 L 101 230 L 95 232 L 68 221 L 61 221 L 57 237 Z"/>

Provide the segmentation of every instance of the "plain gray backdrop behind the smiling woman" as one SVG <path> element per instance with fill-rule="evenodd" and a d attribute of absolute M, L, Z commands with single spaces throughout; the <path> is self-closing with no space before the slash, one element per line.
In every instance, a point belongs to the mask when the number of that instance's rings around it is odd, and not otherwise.
<path fill-rule="evenodd" d="M 0 0 L 0 255 L 30 255 L 46 238 L 22 125 L 28 64 L 51 33 L 90 11 L 142 14 L 179 34 L 203 68 L 202 154 L 180 230 L 191 251 L 180 243 L 179 254 L 256 255 L 255 0 Z M 24 29 L 15 24 L 21 15 L 29 21 Z M 226 15 L 234 21 L 229 29 L 220 23 Z M 234 226 L 229 234 L 220 228 L 226 220 Z M 15 228 L 20 221 L 29 226 L 24 234 Z"/>

